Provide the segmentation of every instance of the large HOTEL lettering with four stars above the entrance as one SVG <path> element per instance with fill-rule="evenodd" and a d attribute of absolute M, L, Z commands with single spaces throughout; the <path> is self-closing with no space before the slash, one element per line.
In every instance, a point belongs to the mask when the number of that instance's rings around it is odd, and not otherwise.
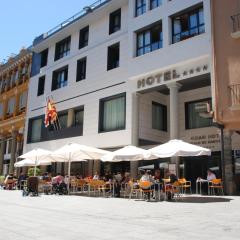
<path fill-rule="evenodd" d="M 195 74 L 207 72 L 208 64 L 190 68 L 189 70 L 178 71 L 176 69 L 164 71 L 155 75 L 151 75 L 137 81 L 137 88 L 145 88 L 158 84 L 167 83 L 171 80 L 180 80 L 183 78 L 194 76 Z"/>

